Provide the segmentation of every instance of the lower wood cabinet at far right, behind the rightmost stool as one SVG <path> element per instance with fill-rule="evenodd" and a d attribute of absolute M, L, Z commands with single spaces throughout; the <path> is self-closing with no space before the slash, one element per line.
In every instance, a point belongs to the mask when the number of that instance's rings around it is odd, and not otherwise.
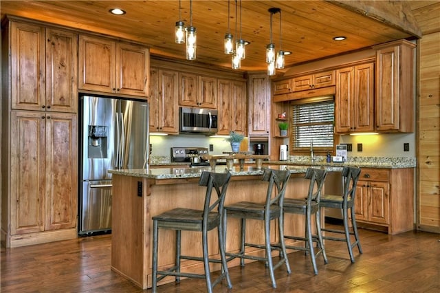
<path fill-rule="evenodd" d="M 414 195 L 414 169 L 362 168 L 355 195 L 356 221 L 388 234 L 412 230 Z"/>

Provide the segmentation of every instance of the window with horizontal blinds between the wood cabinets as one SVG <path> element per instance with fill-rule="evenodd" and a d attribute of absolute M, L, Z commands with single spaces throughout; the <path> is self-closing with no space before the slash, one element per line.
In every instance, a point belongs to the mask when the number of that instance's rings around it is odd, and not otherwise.
<path fill-rule="evenodd" d="M 334 114 L 333 96 L 292 102 L 292 150 L 333 150 Z"/>

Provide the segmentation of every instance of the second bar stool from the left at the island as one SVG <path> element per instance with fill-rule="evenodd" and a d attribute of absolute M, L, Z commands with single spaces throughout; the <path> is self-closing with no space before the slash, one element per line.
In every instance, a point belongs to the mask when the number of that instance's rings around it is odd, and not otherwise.
<path fill-rule="evenodd" d="M 274 270 L 276 268 L 284 263 L 287 268 L 287 273 L 291 273 L 283 238 L 283 199 L 289 177 L 289 170 L 279 171 L 265 169 L 262 178 L 263 181 L 268 182 L 265 202 L 238 202 L 236 204 L 225 206 L 225 210 L 223 213 L 223 226 L 225 227 L 227 217 L 236 217 L 241 219 L 241 250 L 238 253 L 226 252 L 226 256 L 230 257 L 228 258 L 228 261 L 239 257 L 242 267 L 245 265 L 244 259 L 265 261 L 265 263 L 267 263 L 267 266 L 269 267 L 270 279 L 272 281 L 272 287 L 274 288 L 276 288 L 276 281 L 274 276 Z M 245 241 L 246 219 L 257 219 L 264 221 L 265 244 L 247 243 Z M 270 243 L 270 221 L 276 219 L 278 219 L 278 242 Z M 265 257 L 245 254 L 245 246 L 264 248 Z M 272 249 L 281 250 L 281 260 L 278 261 L 278 263 L 276 263 L 275 265 L 272 261 Z"/>

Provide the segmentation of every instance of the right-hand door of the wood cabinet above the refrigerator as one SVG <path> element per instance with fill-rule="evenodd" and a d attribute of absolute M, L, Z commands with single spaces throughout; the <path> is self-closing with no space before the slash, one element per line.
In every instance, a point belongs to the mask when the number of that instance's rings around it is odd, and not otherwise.
<path fill-rule="evenodd" d="M 116 44 L 116 93 L 148 96 L 149 54 L 146 47 Z"/>

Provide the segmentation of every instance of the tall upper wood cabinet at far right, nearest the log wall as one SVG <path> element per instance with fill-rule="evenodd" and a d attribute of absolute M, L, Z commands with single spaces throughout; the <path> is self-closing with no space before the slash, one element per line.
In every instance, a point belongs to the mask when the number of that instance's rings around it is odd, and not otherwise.
<path fill-rule="evenodd" d="M 377 45 L 376 50 L 376 130 L 414 131 L 414 47 L 406 40 Z"/>

